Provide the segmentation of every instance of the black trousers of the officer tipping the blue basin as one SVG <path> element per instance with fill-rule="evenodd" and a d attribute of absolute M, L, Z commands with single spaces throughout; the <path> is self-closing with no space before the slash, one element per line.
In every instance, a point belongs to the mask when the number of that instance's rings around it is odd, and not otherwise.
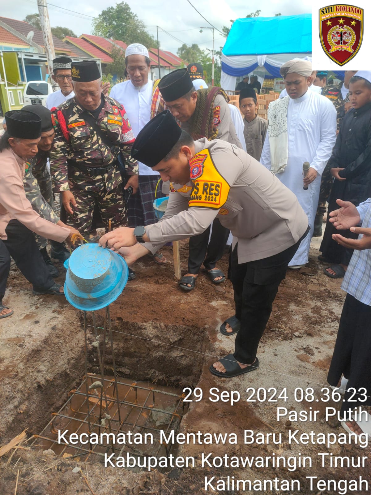
<path fill-rule="evenodd" d="M 238 264 L 237 245 L 231 263 L 231 282 L 234 292 L 235 314 L 241 322 L 236 334 L 233 356 L 242 364 L 252 364 L 260 339 L 271 316 L 272 304 L 287 265 L 294 256 L 308 230 L 293 246 L 268 258 Z"/>

